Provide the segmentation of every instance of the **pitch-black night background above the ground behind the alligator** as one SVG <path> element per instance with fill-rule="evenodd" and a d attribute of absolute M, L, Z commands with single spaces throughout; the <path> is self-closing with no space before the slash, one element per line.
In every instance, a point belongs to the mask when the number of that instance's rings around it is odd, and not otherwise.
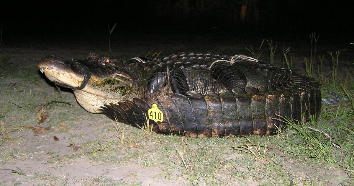
<path fill-rule="evenodd" d="M 245 17 L 241 7 L 247 5 Z M 99 39 L 114 34 L 247 35 L 353 42 L 352 1 L 0 1 L 4 42 Z"/>

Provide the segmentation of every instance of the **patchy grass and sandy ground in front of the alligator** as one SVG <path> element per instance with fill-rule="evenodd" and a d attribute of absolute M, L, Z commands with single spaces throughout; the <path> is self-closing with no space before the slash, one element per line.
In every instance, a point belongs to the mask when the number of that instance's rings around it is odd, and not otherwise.
<path fill-rule="evenodd" d="M 339 72 L 340 53 L 326 54 L 335 64 L 331 68 L 331 76 L 327 77 L 322 70 L 322 61 L 326 58 L 315 56 L 317 41 L 318 37 L 313 36 L 313 54 L 308 59 L 314 64 L 313 70 L 308 69 L 308 72 L 313 72 L 312 77 L 318 78 L 324 88 L 337 92 L 341 97 L 353 97 L 352 74 L 346 79 L 332 79 Z M 253 57 L 264 58 L 261 51 L 263 42 L 257 48 L 259 50 L 250 47 Z M 268 46 L 274 45 L 269 49 L 274 57 L 276 45 L 272 40 L 267 43 Z M 266 56 L 271 58 L 268 53 Z M 290 53 L 290 47 L 283 47 L 282 56 L 284 67 L 291 69 L 294 54 Z M 36 72 L 36 69 L 29 71 Z M 0 143 L 0 167 L 12 166 L 5 174 L 18 176 L 19 184 L 148 185 L 146 180 L 154 180 L 162 184 L 177 182 L 182 185 L 280 183 L 290 186 L 350 185 L 354 182 L 353 100 L 325 105 L 317 121 L 288 121 L 286 130 L 270 137 L 194 139 L 155 134 L 148 123 L 142 129 L 114 123 L 103 115 L 85 112 L 72 93 L 47 85 L 38 74 L 29 73 L 27 79 L 30 79 L 29 83 L 0 86 L 1 130 L 10 134 Z M 34 135 L 29 129 L 23 129 L 21 133 L 12 131 L 17 126 L 37 125 L 36 114 L 40 104 L 49 102 L 46 106 L 49 119 L 43 125 L 53 125 L 53 130 L 39 135 Z M 59 141 L 53 140 L 54 135 Z M 36 162 L 36 170 L 42 172 L 28 169 L 26 164 L 29 162 Z M 54 176 L 53 167 L 74 171 L 80 170 L 75 167 L 102 170 L 102 175 L 91 172 L 89 176 L 73 180 L 70 174 L 78 173 L 72 171 Z"/>

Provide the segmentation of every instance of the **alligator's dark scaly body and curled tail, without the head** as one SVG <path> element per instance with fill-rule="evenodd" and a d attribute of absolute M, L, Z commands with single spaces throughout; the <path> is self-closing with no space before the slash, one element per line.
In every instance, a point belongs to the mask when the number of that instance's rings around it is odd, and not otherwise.
<path fill-rule="evenodd" d="M 155 132 L 192 137 L 270 135 L 284 118 L 318 118 L 321 92 L 314 79 L 234 57 L 180 53 L 144 62 L 153 69 L 147 94 L 101 111 L 118 122 L 149 122 Z M 161 118 L 147 119 L 154 105 Z"/>

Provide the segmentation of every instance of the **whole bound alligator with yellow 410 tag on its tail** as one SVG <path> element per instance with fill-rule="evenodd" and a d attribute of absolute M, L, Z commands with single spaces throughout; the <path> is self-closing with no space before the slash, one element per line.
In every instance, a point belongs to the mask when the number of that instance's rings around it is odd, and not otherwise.
<path fill-rule="evenodd" d="M 286 119 L 318 118 L 321 110 L 314 79 L 243 55 L 121 60 L 90 53 L 78 61 L 45 56 L 38 66 L 73 89 L 86 111 L 165 134 L 271 135 Z"/>

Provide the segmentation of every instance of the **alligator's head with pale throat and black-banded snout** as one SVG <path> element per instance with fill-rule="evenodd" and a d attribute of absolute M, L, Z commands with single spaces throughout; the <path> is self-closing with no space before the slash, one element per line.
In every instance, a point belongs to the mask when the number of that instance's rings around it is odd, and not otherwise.
<path fill-rule="evenodd" d="M 45 56 L 38 67 L 55 84 L 73 89 L 76 100 L 91 113 L 100 113 L 97 109 L 104 104 L 132 100 L 143 92 L 137 90 L 137 78 L 126 62 L 94 53 L 79 61 Z"/>

